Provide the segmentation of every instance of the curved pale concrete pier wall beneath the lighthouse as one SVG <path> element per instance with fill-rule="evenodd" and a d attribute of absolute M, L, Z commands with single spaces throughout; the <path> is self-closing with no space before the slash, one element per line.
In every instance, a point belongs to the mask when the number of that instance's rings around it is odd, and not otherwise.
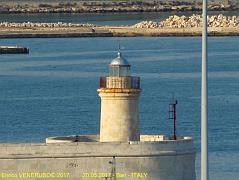
<path fill-rule="evenodd" d="M 152 138 L 144 136 L 147 139 Z M 193 141 L 160 139 L 0 144 L 0 172 L 17 176 L 15 179 L 38 179 L 43 175 L 45 179 L 114 179 L 115 175 L 127 180 L 195 180 Z"/>

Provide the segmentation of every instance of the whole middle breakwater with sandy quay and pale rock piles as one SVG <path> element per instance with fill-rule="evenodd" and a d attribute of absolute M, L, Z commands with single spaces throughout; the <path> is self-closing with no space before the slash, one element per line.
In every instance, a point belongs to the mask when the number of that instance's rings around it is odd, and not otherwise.
<path fill-rule="evenodd" d="M 210 16 L 210 36 L 238 36 L 239 16 Z M 0 23 L 0 38 L 201 36 L 201 16 L 170 16 L 161 22 L 133 26 L 97 26 L 74 23 Z"/>

